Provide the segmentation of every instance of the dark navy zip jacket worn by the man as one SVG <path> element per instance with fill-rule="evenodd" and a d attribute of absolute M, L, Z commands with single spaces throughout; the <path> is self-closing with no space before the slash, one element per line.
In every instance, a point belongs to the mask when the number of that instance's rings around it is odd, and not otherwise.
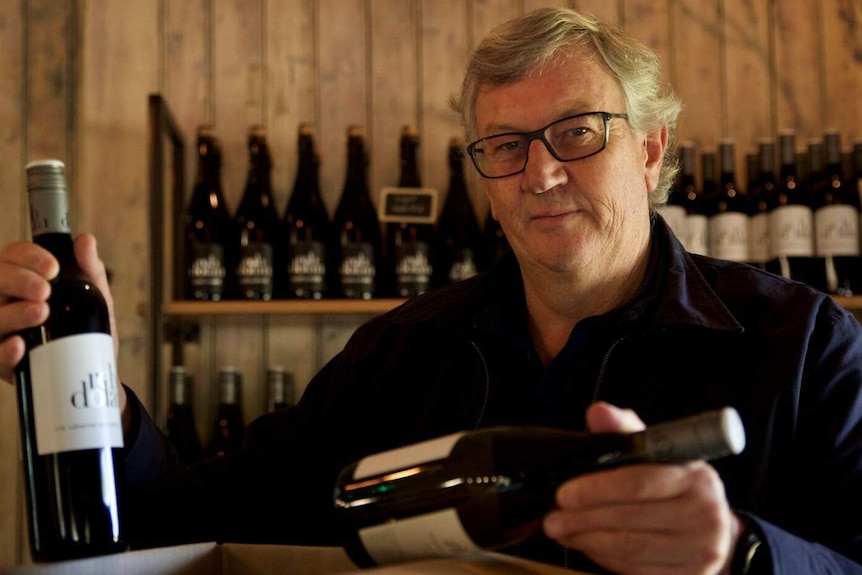
<path fill-rule="evenodd" d="M 337 544 L 334 478 L 365 455 L 498 424 L 583 429 L 597 399 L 648 425 L 731 405 L 748 444 L 715 467 L 774 573 L 862 573 L 858 321 L 808 286 L 686 253 L 661 218 L 653 228 L 639 294 L 579 323 L 547 368 L 510 254 L 361 326 L 295 408 L 250 425 L 239 455 L 179 473 L 138 407 L 133 539 Z M 540 539 L 513 552 L 559 562 Z"/>

